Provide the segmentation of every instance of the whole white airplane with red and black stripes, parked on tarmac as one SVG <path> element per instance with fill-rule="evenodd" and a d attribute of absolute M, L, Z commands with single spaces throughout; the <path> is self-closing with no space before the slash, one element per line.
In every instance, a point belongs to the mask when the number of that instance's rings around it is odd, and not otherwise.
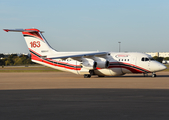
<path fill-rule="evenodd" d="M 166 69 L 150 55 L 138 52 L 59 52 L 53 49 L 42 35 L 43 31 L 31 29 L 4 29 L 6 32 L 22 32 L 31 60 L 61 71 L 68 71 L 84 78 L 122 76 L 142 73 L 144 76 Z"/>

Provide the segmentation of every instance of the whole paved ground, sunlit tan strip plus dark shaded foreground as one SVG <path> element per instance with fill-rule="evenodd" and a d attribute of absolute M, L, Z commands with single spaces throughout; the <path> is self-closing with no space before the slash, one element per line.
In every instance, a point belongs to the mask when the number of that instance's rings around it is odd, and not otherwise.
<path fill-rule="evenodd" d="M 1 73 L 0 120 L 169 119 L 169 75 L 157 75 Z"/>

